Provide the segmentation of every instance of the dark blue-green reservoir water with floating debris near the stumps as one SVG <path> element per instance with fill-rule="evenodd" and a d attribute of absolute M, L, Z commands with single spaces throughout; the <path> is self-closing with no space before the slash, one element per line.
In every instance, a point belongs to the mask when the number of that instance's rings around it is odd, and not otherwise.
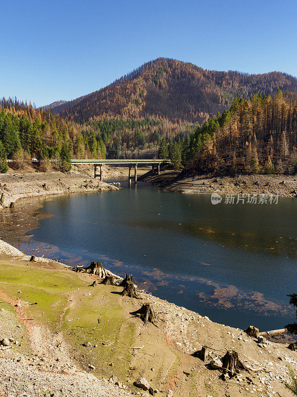
<path fill-rule="evenodd" d="M 261 330 L 284 328 L 295 312 L 297 200 L 218 204 L 210 196 L 137 189 L 46 199 L 35 242 L 68 264 L 102 261 L 138 285 L 211 320 Z M 42 253 L 39 251 L 39 253 Z M 39 254 L 38 254 L 39 255 Z"/>

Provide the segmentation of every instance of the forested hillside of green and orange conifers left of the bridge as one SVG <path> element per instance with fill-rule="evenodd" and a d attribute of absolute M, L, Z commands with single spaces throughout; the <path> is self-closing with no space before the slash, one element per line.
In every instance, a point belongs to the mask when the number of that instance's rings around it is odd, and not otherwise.
<path fill-rule="evenodd" d="M 105 156 L 105 146 L 94 133 L 83 134 L 77 124 L 16 98 L 0 100 L 0 141 L 8 158 L 58 159 L 63 147 L 72 157 Z"/>

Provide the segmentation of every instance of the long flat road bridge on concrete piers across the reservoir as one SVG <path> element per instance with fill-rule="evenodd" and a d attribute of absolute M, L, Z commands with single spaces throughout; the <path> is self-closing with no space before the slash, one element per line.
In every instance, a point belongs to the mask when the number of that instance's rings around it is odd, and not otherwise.
<path fill-rule="evenodd" d="M 134 167 L 134 182 L 137 183 L 137 166 L 144 165 L 148 166 L 151 165 L 152 170 L 154 167 L 157 167 L 157 173 L 160 173 L 160 164 L 170 164 L 171 161 L 168 159 L 73 159 L 71 160 L 71 164 L 78 165 L 78 164 L 94 164 L 94 178 L 100 177 L 100 181 L 103 180 L 102 174 L 102 165 L 127 165 L 129 167 L 129 185 L 131 184 L 131 168 Z M 100 167 L 100 174 L 97 174 L 97 167 Z"/>

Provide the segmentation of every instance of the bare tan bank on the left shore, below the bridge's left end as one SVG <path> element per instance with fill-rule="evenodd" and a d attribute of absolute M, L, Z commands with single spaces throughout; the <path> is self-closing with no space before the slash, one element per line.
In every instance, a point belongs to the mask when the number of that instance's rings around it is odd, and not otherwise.
<path fill-rule="evenodd" d="M 104 167 L 103 178 L 121 177 L 125 174 Z M 35 172 L 0 174 L 0 208 L 28 197 L 41 197 L 65 193 L 105 192 L 118 187 L 94 178 L 92 167 L 73 166 L 69 173 Z"/>

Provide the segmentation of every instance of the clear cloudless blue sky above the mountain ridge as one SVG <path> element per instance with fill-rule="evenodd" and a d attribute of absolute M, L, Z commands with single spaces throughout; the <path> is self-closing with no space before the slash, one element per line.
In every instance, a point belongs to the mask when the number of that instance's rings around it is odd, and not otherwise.
<path fill-rule="evenodd" d="M 95 91 L 158 57 L 297 75 L 297 2 L 0 2 L 0 96 L 45 105 Z"/>

